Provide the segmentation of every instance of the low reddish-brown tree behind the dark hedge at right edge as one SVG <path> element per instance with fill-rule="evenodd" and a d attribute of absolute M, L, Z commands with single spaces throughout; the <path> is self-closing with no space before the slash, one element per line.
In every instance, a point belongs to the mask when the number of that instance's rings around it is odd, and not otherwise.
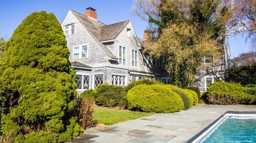
<path fill-rule="evenodd" d="M 256 62 L 256 53 L 241 53 L 237 57 L 234 57 L 232 61 L 239 66 L 251 66 L 253 63 Z"/>

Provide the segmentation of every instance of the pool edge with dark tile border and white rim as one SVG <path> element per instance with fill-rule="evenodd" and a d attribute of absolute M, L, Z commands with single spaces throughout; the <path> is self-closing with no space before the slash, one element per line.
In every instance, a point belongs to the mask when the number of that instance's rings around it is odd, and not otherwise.
<path fill-rule="evenodd" d="M 211 127 L 214 127 L 215 124 L 217 125 L 224 117 L 226 117 L 227 114 L 238 114 L 238 115 L 256 115 L 256 112 L 254 111 L 226 111 L 223 113 L 219 118 L 215 119 L 213 122 L 211 122 L 208 126 L 206 126 L 203 130 L 201 130 L 198 134 L 194 135 L 192 138 L 190 138 L 185 143 L 195 143 L 201 135 L 203 135 L 207 130 L 211 129 Z M 201 139 L 202 137 L 200 137 Z M 199 140 L 198 140 L 199 141 Z M 197 142 L 197 141 L 196 141 Z"/>

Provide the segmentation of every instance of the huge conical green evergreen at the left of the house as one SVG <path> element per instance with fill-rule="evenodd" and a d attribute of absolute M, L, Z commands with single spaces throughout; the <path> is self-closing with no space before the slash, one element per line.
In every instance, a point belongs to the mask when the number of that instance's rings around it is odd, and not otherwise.
<path fill-rule="evenodd" d="M 76 84 L 66 44 L 55 15 L 45 11 L 26 17 L 6 42 L 0 81 L 10 105 L 1 119 L 7 142 L 66 142 L 81 133 L 69 113 Z"/>

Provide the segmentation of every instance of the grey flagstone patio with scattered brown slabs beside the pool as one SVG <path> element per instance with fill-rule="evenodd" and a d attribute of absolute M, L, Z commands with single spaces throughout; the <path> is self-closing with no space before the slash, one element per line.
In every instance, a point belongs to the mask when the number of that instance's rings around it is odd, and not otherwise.
<path fill-rule="evenodd" d="M 256 106 L 195 105 L 188 110 L 129 120 L 84 131 L 72 143 L 185 143 L 226 111 L 253 111 Z"/>

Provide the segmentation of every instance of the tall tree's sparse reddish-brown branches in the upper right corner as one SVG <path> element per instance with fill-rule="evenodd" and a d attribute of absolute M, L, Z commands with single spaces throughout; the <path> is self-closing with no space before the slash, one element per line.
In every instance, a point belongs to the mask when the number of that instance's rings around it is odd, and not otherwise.
<path fill-rule="evenodd" d="M 233 16 L 229 20 L 235 34 L 247 34 L 245 41 L 250 41 L 251 48 L 256 49 L 256 0 L 237 0 Z"/>

